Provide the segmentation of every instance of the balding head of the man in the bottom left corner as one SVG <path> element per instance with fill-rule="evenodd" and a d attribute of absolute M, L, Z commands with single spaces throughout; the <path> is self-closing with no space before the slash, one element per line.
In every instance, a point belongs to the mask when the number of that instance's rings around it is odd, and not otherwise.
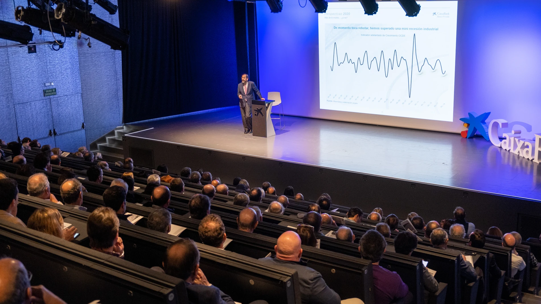
<path fill-rule="evenodd" d="M 28 299 L 27 269 L 19 260 L 0 259 L 0 303 L 24 303 Z"/>

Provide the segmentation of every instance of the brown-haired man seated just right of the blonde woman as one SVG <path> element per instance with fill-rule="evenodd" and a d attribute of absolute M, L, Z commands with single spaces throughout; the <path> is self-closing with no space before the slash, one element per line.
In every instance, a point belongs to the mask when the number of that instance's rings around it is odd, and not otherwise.
<path fill-rule="evenodd" d="M 124 258 L 124 244 L 118 237 L 120 221 L 109 207 L 96 208 L 87 219 L 87 234 L 90 248 L 95 251 Z"/>

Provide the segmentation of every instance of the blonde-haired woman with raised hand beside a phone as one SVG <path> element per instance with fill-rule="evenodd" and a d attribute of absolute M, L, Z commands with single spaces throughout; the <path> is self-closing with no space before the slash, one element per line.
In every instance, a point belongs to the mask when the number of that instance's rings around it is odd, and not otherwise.
<path fill-rule="evenodd" d="M 64 229 L 64 219 L 55 208 L 39 208 L 28 219 L 28 228 L 72 241 L 77 232 L 74 226 Z"/>

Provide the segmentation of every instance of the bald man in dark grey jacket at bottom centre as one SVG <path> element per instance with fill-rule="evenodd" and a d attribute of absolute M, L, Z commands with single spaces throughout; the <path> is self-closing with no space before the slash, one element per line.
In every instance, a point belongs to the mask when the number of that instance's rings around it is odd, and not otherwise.
<path fill-rule="evenodd" d="M 340 296 L 327 286 L 325 280 L 321 278 L 321 274 L 307 267 L 306 263 L 301 260 L 301 244 L 298 234 L 286 231 L 280 235 L 276 246 L 274 246 L 275 258 L 262 258 L 259 261 L 271 267 L 283 266 L 296 270 L 299 275 L 302 303 L 340 303 Z"/>

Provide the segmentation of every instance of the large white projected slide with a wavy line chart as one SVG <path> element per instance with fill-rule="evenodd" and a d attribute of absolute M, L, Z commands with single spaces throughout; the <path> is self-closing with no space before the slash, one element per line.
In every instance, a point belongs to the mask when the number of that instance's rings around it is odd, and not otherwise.
<path fill-rule="evenodd" d="M 457 2 L 329 2 L 319 14 L 320 109 L 453 121 Z"/>

